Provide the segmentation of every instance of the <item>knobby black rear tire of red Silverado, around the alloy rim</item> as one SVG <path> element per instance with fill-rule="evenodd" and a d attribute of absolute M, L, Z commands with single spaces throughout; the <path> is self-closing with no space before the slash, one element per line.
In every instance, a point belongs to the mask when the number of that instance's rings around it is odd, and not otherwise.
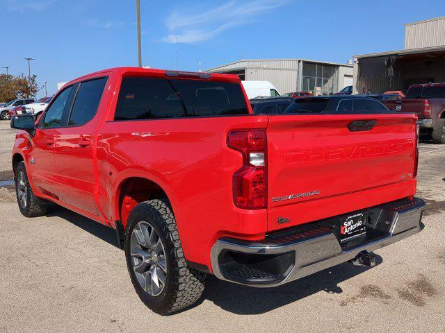
<path fill-rule="evenodd" d="M 136 272 L 133 268 L 133 264 L 136 264 L 134 257 L 131 256 L 131 237 L 134 228 L 136 225 L 140 225 L 140 222 L 147 223 L 150 228 L 156 230 L 165 253 L 163 257 L 166 266 L 165 284 L 163 284 L 163 289 L 158 296 L 152 296 L 149 291 L 145 291 L 140 282 L 138 282 L 138 277 L 136 277 Z M 181 241 L 179 240 L 175 216 L 167 200 L 148 200 L 139 203 L 133 208 L 125 230 L 124 249 L 133 287 L 139 298 L 152 311 L 161 315 L 172 314 L 186 309 L 200 300 L 204 291 L 204 282 L 207 274 L 187 266 Z M 140 260 L 140 262 L 144 261 Z"/>

